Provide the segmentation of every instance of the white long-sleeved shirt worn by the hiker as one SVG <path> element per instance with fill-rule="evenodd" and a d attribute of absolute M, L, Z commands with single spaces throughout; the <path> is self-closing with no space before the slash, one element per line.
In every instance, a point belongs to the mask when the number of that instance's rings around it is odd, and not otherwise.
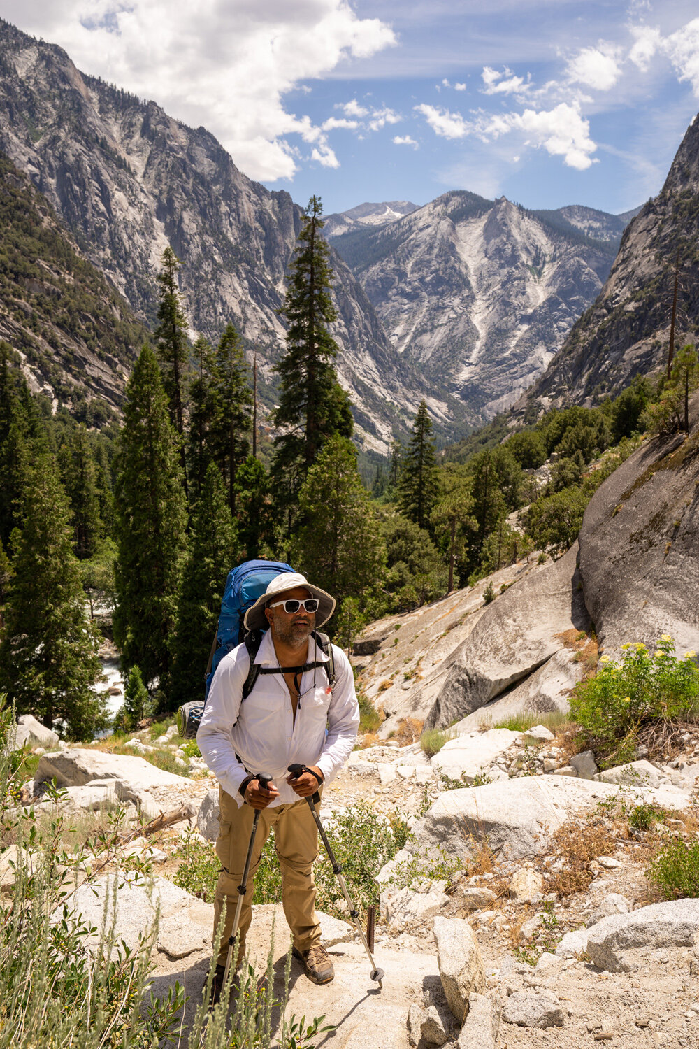
<path fill-rule="evenodd" d="M 271 775 L 279 797 L 272 805 L 288 805 L 299 795 L 286 784 L 287 767 L 316 765 L 332 780 L 349 757 L 359 726 L 359 707 L 352 667 L 347 656 L 332 646 L 335 684 L 330 691 L 322 667 L 301 678 L 296 721 L 289 690 L 281 673 L 259 675 L 253 691 L 241 702 L 249 669 L 245 645 L 238 645 L 219 663 L 197 732 L 197 744 L 223 790 L 243 799 L 238 788 L 249 772 Z M 308 642 L 308 662 L 328 657 L 315 642 Z M 279 666 L 269 631 L 255 659 L 262 666 Z M 327 734 L 326 734 L 327 728 Z"/>

